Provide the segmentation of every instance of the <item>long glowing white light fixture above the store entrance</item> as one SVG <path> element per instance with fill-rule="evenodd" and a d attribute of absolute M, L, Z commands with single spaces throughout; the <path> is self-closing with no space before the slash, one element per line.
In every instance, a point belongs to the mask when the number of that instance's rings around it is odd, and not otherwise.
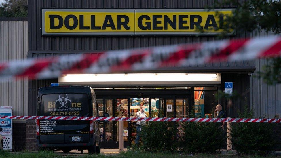
<path fill-rule="evenodd" d="M 219 73 L 119 73 L 67 74 L 58 78 L 60 84 L 200 84 L 221 83 Z"/>

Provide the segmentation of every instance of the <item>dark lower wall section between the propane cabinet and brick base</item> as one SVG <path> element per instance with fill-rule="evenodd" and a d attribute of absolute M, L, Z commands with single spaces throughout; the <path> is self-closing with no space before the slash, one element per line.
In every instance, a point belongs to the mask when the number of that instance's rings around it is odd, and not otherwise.
<path fill-rule="evenodd" d="M 25 150 L 25 121 L 13 121 L 12 151 Z"/>

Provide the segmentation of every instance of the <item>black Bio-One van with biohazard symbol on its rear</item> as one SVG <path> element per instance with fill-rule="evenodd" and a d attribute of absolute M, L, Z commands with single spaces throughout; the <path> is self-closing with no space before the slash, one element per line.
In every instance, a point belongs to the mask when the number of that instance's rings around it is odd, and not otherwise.
<path fill-rule="evenodd" d="M 96 94 L 86 86 L 43 87 L 38 91 L 37 116 L 97 116 Z M 39 149 L 88 149 L 100 153 L 98 121 L 36 120 Z"/>

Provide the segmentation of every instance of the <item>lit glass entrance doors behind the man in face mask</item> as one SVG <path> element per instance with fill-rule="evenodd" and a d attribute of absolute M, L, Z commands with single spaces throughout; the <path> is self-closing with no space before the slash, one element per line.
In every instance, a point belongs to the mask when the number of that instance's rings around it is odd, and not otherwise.
<path fill-rule="evenodd" d="M 113 97 L 112 97 L 113 98 Z M 135 117 L 144 106 L 147 117 L 188 117 L 190 96 L 152 96 L 151 98 L 115 97 L 98 99 L 99 115 L 108 113 L 110 117 Z M 100 123 L 102 148 L 118 148 L 119 123 L 109 121 Z M 123 121 L 124 148 L 134 144 L 136 122 Z M 128 135 L 127 135 L 128 134 Z"/>

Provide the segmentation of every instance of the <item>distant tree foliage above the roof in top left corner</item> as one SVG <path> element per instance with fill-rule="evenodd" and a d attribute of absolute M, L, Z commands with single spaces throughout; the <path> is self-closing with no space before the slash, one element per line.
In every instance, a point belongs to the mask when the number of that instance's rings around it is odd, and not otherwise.
<path fill-rule="evenodd" d="M 0 4 L 0 17 L 27 17 L 27 0 L 5 0 Z"/>

